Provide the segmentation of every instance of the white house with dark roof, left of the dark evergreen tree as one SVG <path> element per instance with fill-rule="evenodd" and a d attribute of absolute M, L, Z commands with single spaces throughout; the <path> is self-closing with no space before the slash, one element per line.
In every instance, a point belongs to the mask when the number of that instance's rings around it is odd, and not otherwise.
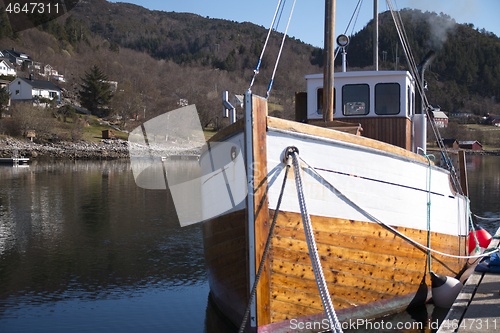
<path fill-rule="evenodd" d="M 61 88 L 50 81 L 16 78 L 9 84 L 10 98 L 13 101 L 32 101 L 36 97 L 61 101 Z"/>

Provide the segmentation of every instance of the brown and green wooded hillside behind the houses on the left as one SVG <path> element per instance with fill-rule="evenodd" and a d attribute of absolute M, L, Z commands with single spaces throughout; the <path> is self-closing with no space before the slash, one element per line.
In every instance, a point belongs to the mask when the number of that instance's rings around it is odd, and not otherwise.
<path fill-rule="evenodd" d="M 118 82 L 119 90 L 126 88 L 127 96 L 140 99 L 140 116 L 151 118 L 177 108 L 182 99 L 196 104 L 202 125 L 223 121 L 224 90 L 232 95 L 248 89 L 267 34 L 251 23 L 104 0 L 81 1 L 70 14 L 38 29 L 7 32 L 0 48 L 15 48 L 50 64 L 66 77 L 58 85 L 74 93 L 97 64 L 109 80 Z M 263 58 L 253 88 L 260 95 L 266 93 L 281 38 L 272 35 Z M 313 50 L 287 39 L 271 93 L 272 114 L 293 117 L 294 92 L 305 89 L 306 74 L 321 71 L 312 64 Z"/>

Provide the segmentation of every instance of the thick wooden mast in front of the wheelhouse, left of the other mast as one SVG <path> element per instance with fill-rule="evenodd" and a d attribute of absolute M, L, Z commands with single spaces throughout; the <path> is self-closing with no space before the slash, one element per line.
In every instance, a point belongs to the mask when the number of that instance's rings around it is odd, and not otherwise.
<path fill-rule="evenodd" d="M 323 120 L 333 120 L 333 72 L 335 60 L 335 0 L 325 0 L 325 48 L 323 65 Z"/>

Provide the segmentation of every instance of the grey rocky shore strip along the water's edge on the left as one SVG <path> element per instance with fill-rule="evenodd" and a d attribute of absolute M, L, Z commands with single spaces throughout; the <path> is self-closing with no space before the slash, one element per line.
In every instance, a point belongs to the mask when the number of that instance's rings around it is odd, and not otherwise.
<path fill-rule="evenodd" d="M 19 156 L 35 158 L 65 158 L 65 159 L 118 159 L 129 158 L 129 147 L 134 156 L 171 156 L 171 155 L 199 155 L 197 146 L 165 146 L 151 145 L 145 147 L 123 140 L 101 140 L 94 142 L 59 142 L 37 144 L 31 141 L 21 141 L 12 138 L 0 139 L 0 157 L 12 157 L 17 150 Z"/>

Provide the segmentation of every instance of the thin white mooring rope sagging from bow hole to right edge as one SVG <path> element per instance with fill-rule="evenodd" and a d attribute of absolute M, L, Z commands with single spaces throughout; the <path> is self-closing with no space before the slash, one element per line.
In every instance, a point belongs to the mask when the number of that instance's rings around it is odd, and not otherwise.
<path fill-rule="evenodd" d="M 480 255 L 476 255 L 476 256 L 456 256 L 456 255 L 453 255 L 453 254 L 448 254 L 448 253 L 443 253 L 443 252 L 440 252 L 440 251 L 437 251 L 437 250 L 433 250 L 425 245 L 422 245 L 416 241 L 414 241 L 413 239 L 411 239 L 410 237 L 402 234 L 401 232 L 397 231 L 396 229 L 394 229 L 393 227 L 391 227 L 390 225 L 380 221 L 379 219 L 377 219 L 375 216 L 371 215 L 370 213 L 368 213 L 366 210 L 364 210 L 363 208 L 361 208 L 360 206 L 358 206 L 354 201 L 352 201 L 351 199 L 349 199 L 347 196 L 345 196 L 342 192 L 340 192 L 335 186 L 333 186 L 330 182 L 328 182 L 322 175 L 320 175 L 316 169 L 314 169 L 312 166 L 310 166 L 309 164 L 307 164 L 306 161 L 304 161 L 302 158 L 300 158 L 300 160 L 307 166 L 308 169 L 310 169 L 317 177 L 319 177 L 322 181 L 323 181 L 323 184 L 327 187 L 330 188 L 330 190 L 335 193 L 338 197 L 340 197 L 342 200 L 344 200 L 345 202 L 347 202 L 348 204 L 350 204 L 353 208 L 355 208 L 359 213 L 363 214 L 366 218 L 368 218 L 369 220 L 371 220 L 372 222 L 375 222 L 379 225 L 381 225 L 382 227 L 386 228 L 387 230 L 391 231 L 392 233 L 398 235 L 399 237 L 403 238 L 404 240 L 406 240 L 407 242 L 413 244 L 414 246 L 424 250 L 424 251 L 431 251 L 435 254 L 439 254 L 439 255 L 442 255 L 442 256 L 445 256 L 445 257 L 450 257 L 450 258 L 456 258 L 456 259 L 476 259 L 476 258 L 482 258 L 482 257 L 487 257 L 487 256 L 490 256 L 491 254 L 495 253 L 495 252 L 500 252 L 500 248 L 496 248 L 495 250 L 491 251 L 491 252 L 488 252 L 488 253 L 483 253 L 483 254 L 480 254 Z"/>

